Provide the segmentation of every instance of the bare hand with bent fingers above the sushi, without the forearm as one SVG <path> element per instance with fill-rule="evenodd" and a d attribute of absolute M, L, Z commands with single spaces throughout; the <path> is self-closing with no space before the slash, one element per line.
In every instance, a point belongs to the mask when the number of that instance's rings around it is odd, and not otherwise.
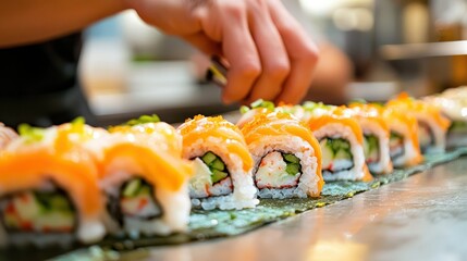
<path fill-rule="evenodd" d="M 296 103 L 308 90 L 318 52 L 280 0 L 126 1 L 146 23 L 225 58 L 225 103 Z"/>

